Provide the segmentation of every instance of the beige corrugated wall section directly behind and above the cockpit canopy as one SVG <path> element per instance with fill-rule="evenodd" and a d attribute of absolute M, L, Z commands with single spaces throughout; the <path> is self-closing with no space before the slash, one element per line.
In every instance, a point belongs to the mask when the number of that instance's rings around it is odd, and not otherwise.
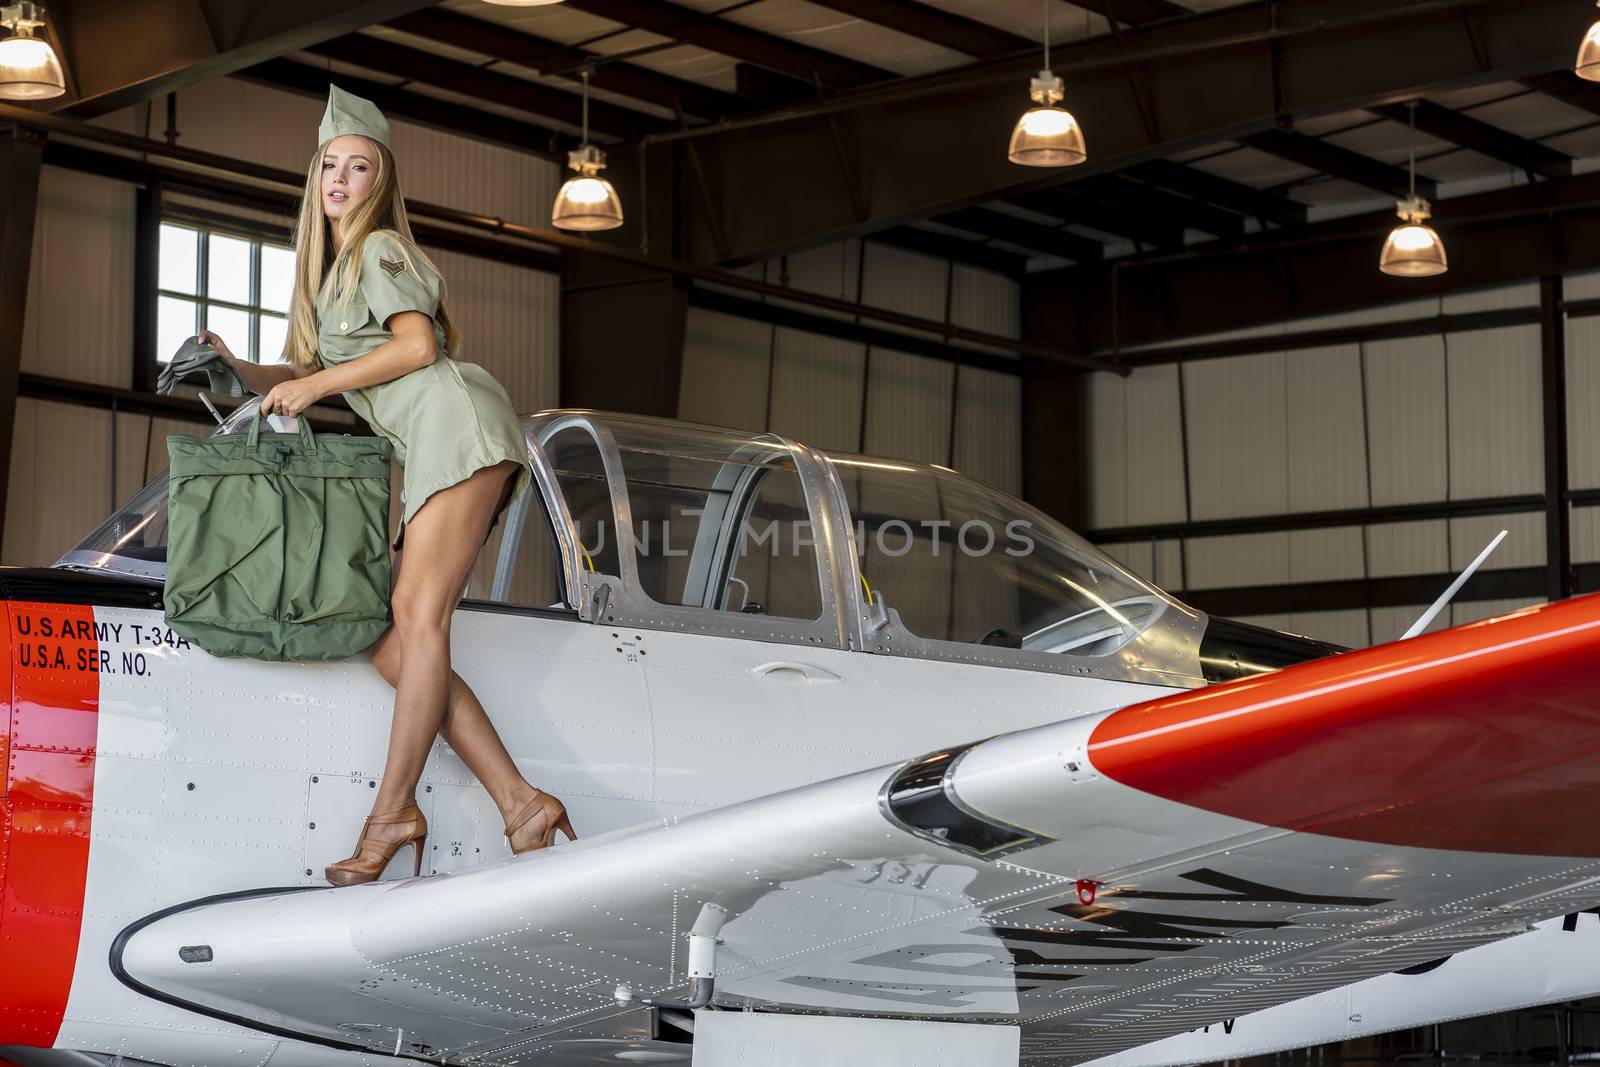
<path fill-rule="evenodd" d="M 1010 278 L 875 242 L 762 264 L 774 285 L 1016 338 Z M 690 309 L 678 416 L 773 430 L 818 448 L 955 467 L 1022 486 L 1021 379 Z"/>

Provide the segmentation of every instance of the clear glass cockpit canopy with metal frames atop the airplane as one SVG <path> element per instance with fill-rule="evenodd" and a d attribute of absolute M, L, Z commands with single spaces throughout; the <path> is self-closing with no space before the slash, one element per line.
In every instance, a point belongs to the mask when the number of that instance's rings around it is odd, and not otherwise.
<path fill-rule="evenodd" d="M 248 410 L 214 432 L 246 430 Z M 1200 673 L 1203 616 L 954 470 L 592 411 L 523 424 L 544 507 L 509 512 L 493 582 L 506 603 L 1042 670 Z M 539 573 L 565 592 L 499 597 L 523 557 L 549 560 Z M 165 563 L 162 474 L 58 566 L 160 582 Z"/>

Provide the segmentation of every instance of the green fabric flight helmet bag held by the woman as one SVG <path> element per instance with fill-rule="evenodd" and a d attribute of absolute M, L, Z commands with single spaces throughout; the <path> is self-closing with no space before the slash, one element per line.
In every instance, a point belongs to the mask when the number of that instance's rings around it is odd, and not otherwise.
<path fill-rule="evenodd" d="M 166 624 L 213 656 L 344 659 L 389 625 L 382 437 L 166 438 Z"/>

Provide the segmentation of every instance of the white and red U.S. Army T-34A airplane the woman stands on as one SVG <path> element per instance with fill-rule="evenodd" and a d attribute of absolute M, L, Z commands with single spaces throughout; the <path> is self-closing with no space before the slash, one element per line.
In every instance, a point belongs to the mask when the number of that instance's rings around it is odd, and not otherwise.
<path fill-rule="evenodd" d="M 453 665 L 549 849 L 438 742 L 424 873 L 326 886 L 392 689 L 166 625 L 165 474 L 0 568 L 0 1059 L 1166 1067 L 1600 992 L 1600 598 L 1352 651 L 946 467 L 523 426 Z"/>

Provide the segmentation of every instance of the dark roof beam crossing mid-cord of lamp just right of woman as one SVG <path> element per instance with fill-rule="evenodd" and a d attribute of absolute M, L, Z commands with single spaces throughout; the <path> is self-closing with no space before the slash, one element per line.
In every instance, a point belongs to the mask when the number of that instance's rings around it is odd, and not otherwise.
<path fill-rule="evenodd" d="M 470 62 L 435 56 L 421 48 L 406 48 L 365 34 L 349 34 L 312 45 L 309 51 L 368 70 L 381 70 L 408 82 L 421 82 L 451 93 L 494 101 L 504 107 L 554 118 L 568 126 L 578 126 L 582 122 L 582 98 L 578 93 L 552 90 L 538 82 L 474 67 Z M 654 115 L 605 101 L 589 101 L 589 128 L 611 138 L 624 141 L 642 138 L 654 130 L 666 130 L 667 125 L 664 118 Z"/>

